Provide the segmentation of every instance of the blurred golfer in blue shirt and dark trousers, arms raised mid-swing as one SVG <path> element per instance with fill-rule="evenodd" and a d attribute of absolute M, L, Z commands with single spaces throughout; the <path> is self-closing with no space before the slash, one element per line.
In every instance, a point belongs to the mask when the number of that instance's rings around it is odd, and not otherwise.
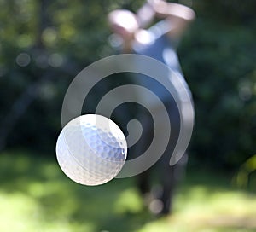
<path fill-rule="evenodd" d="M 146 28 L 154 18 L 159 20 L 154 26 Z M 115 33 L 116 41 L 119 43 L 119 50 L 122 53 L 135 53 L 148 55 L 163 62 L 172 69 L 181 81 L 186 85 L 183 78 L 179 61 L 177 58 L 177 44 L 189 23 L 195 19 L 195 12 L 186 6 L 177 3 L 166 3 L 163 0 L 148 0 L 137 14 L 125 9 L 117 9 L 108 14 L 109 24 Z M 170 93 L 152 78 L 137 75 L 137 82 L 140 85 L 152 90 L 165 104 L 169 114 L 172 133 L 170 142 L 160 160 L 160 189 L 156 191 L 154 199 L 149 202 L 149 208 L 157 214 L 168 214 L 172 212 L 172 194 L 175 183 L 180 177 L 180 171 L 186 163 L 186 155 L 183 156 L 177 165 L 170 166 L 169 160 L 177 143 L 180 128 L 180 115 L 177 105 Z M 170 78 L 170 75 L 166 75 Z M 186 85 L 187 86 L 187 85 Z M 189 87 L 188 87 L 189 90 Z M 149 100 L 150 101 L 150 100 Z M 158 106 L 152 102 L 149 111 L 158 111 Z M 154 124 L 149 113 L 142 113 L 143 136 L 141 150 L 148 148 L 154 135 Z M 165 130 L 165 125 L 161 125 Z M 140 153 L 141 154 L 141 153 Z M 138 185 L 143 194 L 150 192 L 149 171 L 143 172 L 138 177 Z"/>

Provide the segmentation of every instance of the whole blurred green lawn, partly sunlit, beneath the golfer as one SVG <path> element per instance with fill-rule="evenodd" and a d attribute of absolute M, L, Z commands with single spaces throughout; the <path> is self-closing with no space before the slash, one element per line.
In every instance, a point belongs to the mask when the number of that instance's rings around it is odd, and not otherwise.
<path fill-rule="evenodd" d="M 145 210 L 134 178 L 86 187 L 38 154 L 0 154 L 0 184 L 0 231 L 256 231 L 256 195 L 218 171 L 189 171 L 161 218 Z"/>

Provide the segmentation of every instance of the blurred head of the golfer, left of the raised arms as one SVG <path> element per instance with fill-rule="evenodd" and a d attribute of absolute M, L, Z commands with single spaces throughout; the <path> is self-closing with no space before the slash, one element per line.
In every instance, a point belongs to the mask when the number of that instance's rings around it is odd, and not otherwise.
<path fill-rule="evenodd" d="M 122 38 L 130 38 L 138 29 L 136 15 L 126 9 L 116 9 L 108 14 L 108 22 L 113 32 Z"/>

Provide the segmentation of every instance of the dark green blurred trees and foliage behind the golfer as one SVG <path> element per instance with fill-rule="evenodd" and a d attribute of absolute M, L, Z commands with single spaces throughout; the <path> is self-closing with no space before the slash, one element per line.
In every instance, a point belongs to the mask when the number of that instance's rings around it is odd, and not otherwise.
<path fill-rule="evenodd" d="M 113 54 L 106 15 L 142 4 L 0 0 L 0 148 L 54 153 L 68 84 Z M 195 0 L 193 8 L 197 20 L 178 49 L 195 101 L 190 160 L 236 167 L 256 151 L 256 2 Z"/>

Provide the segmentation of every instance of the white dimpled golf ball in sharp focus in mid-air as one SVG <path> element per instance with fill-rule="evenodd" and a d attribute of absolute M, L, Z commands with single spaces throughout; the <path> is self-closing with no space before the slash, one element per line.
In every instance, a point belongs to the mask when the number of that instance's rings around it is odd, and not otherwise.
<path fill-rule="evenodd" d="M 61 170 L 76 183 L 99 185 L 116 177 L 125 164 L 127 143 L 111 119 L 85 114 L 65 125 L 57 139 Z"/>

